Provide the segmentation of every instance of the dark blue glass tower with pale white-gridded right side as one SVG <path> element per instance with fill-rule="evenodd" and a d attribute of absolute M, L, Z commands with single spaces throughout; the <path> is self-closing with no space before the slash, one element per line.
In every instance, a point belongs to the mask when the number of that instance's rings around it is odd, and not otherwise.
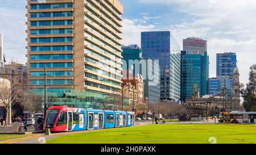
<path fill-rule="evenodd" d="M 159 60 L 161 100 L 180 100 L 180 46 L 170 31 L 141 33 L 142 56 Z"/>

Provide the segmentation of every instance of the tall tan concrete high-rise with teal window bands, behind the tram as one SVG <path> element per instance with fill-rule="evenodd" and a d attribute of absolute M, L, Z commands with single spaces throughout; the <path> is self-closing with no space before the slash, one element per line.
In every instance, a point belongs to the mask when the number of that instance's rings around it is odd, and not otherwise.
<path fill-rule="evenodd" d="M 32 90 L 43 92 L 46 66 L 51 104 L 97 108 L 107 96 L 121 93 L 123 6 L 118 0 L 27 2 Z M 73 92 L 82 94 L 60 98 Z"/>

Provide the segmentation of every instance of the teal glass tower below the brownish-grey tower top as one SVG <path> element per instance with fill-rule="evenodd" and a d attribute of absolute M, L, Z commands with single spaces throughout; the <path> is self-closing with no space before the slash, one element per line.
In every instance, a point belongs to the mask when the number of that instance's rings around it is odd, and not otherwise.
<path fill-rule="evenodd" d="M 204 55 L 187 55 L 186 51 L 181 51 L 180 63 L 181 101 L 192 98 L 195 89 L 201 96 L 208 94 L 209 56 L 207 52 Z"/>

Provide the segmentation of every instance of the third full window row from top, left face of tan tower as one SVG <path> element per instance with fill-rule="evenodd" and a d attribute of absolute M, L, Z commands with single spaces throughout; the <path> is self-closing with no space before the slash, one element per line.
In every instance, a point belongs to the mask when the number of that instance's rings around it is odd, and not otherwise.
<path fill-rule="evenodd" d="M 44 21 L 32 21 L 31 26 L 71 26 L 73 20 L 44 20 Z"/>

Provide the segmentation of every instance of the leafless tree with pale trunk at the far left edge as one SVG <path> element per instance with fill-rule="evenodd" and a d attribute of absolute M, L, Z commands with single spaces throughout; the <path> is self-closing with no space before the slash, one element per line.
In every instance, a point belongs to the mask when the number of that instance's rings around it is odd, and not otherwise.
<path fill-rule="evenodd" d="M 10 110 L 15 103 L 23 104 L 24 90 L 23 75 L 18 70 L 11 70 L 11 73 L 6 74 L 5 79 L 0 79 L 0 102 L 6 110 L 6 123 L 10 124 Z"/>

